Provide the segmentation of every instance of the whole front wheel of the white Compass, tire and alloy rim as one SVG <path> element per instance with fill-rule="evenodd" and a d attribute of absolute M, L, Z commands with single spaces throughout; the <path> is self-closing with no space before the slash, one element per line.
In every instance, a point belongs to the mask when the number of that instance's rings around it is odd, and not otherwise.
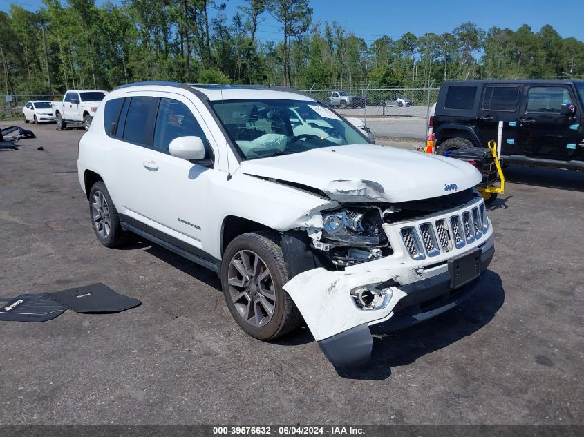
<path fill-rule="evenodd" d="M 223 254 L 221 284 L 227 307 L 249 336 L 272 340 L 299 327 L 300 312 L 283 290 L 288 268 L 276 233 L 245 233 Z"/>

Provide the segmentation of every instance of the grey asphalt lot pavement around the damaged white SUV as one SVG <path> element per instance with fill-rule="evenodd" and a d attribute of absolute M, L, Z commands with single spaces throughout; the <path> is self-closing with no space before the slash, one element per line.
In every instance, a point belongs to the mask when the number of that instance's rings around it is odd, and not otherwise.
<path fill-rule="evenodd" d="M 209 271 L 147 242 L 101 246 L 82 131 L 32 130 L 0 150 L 0 298 L 104 282 L 142 305 L 0 322 L 0 424 L 583 423 L 584 173 L 507 168 L 474 297 L 337 371 L 305 329 L 246 336 Z"/>

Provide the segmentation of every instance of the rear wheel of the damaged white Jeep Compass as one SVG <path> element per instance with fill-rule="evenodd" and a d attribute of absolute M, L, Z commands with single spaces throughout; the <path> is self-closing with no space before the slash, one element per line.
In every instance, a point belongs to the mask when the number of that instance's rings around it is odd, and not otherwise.
<path fill-rule="evenodd" d="M 129 242 L 131 233 L 122 229 L 120 216 L 102 181 L 95 182 L 89 192 L 89 214 L 95 236 L 104 246 L 115 248 Z"/>

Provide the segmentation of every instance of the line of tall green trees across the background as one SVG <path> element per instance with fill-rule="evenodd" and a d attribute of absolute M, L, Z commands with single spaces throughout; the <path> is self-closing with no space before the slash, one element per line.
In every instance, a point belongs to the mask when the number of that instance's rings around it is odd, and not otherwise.
<path fill-rule="evenodd" d="M 446 79 L 584 75 L 584 42 L 552 26 L 482 30 L 466 22 L 442 35 L 366 40 L 335 21 L 314 19 L 308 0 L 247 0 L 231 17 L 215 0 L 43 2 L 35 11 L 13 3 L 0 12 L 6 94 L 146 80 L 407 88 Z M 277 23 L 274 39 L 258 37 L 267 17 Z"/>

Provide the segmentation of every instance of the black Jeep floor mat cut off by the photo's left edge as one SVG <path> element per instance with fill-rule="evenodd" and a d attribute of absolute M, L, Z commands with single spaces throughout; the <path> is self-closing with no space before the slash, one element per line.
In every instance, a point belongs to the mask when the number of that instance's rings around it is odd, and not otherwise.
<path fill-rule="evenodd" d="M 0 320 L 15 322 L 46 322 L 67 309 L 48 293 L 21 294 L 0 307 Z"/>

